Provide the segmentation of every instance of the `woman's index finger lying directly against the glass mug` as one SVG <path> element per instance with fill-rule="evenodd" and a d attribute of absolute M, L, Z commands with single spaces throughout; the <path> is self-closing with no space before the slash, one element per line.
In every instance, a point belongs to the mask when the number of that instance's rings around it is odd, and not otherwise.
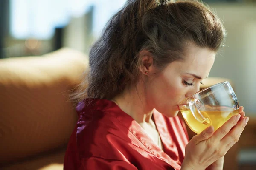
<path fill-rule="evenodd" d="M 236 125 L 240 117 L 240 114 L 236 114 L 232 116 L 227 122 L 225 122 L 220 128 L 218 128 L 218 130 L 216 130 L 214 133 L 214 136 L 217 138 L 217 140 L 221 140 L 225 135 L 227 135 L 231 128 Z"/>

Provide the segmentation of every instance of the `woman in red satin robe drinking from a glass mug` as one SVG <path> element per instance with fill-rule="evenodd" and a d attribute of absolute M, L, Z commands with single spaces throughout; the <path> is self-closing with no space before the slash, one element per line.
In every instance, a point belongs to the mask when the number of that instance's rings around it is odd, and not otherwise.
<path fill-rule="evenodd" d="M 189 141 L 177 105 L 199 91 L 224 37 L 197 1 L 129 0 L 91 48 L 64 170 L 222 170 L 243 108 Z"/>

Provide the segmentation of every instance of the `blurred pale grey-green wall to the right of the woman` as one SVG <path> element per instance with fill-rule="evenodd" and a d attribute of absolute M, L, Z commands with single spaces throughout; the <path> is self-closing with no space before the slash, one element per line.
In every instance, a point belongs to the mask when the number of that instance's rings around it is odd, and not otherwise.
<path fill-rule="evenodd" d="M 227 40 L 209 76 L 231 79 L 239 104 L 248 116 L 256 116 L 256 6 L 210 4 L 210 7 L 223 20 Z"/>

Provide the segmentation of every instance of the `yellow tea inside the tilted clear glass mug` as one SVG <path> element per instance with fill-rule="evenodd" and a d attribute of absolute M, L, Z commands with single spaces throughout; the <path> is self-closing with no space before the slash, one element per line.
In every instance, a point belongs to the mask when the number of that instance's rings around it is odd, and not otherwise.
<path fill-rule="evenodd" d="M 208 126 L 213 125 L 214 130 L 217 130 L 219 127 L 221 127 L 225 122 L 227 122 L 230 117 L 232 117 L 235 114 L 239 113 L 239 109 L 232 110 L 230 109 L 224 109 L 224 111 L 200 111 L 201 114 L 209 119 L 209 125 L 205 125 L 203 123 L 198 122 L 198 120 L 195 119 L 192 112 L 190 110 L 180 110 L 186 124 L 190 127 L 191 130 L 193 130 L 195 133 L 201 133 L 204 129 L 206 129 Z"/>

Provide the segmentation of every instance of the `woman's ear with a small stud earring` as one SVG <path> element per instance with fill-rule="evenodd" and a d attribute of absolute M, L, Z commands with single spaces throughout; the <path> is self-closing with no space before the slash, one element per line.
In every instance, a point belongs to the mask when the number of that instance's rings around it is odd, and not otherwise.
<path fill-rule="evenodd" d="M 139 57 L 141 60 L 141 65 L 140 65 L 140 71 L 142 74 L 152 74 L 155 72 L 155 67 L 153 65 L 153 57 L 151 52 L 147 50 L 142 50 L 139 53 Z"/>

